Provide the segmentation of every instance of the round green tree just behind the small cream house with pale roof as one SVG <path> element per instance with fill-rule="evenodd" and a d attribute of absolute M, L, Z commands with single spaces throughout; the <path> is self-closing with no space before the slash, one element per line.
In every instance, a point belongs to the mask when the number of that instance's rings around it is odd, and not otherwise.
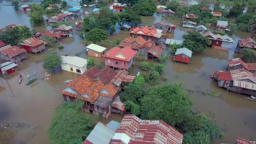
<path fill-rule="evenodd" d="M 108 38 L 108 32 L 99 28 L 94 28 L 86 34 L 86 40 L 97 44 Z"/>

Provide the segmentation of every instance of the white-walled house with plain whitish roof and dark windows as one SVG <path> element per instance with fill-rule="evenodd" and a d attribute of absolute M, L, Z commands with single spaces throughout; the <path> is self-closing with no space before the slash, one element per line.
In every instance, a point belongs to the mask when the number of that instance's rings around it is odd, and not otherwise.
<path fill-rule="evenodd" d="M 62 70 L 74 72 L 77 74 L 84 74 L 87 68 L 87 60 L 77 56 L 61 56 L 62 57 Z"/>

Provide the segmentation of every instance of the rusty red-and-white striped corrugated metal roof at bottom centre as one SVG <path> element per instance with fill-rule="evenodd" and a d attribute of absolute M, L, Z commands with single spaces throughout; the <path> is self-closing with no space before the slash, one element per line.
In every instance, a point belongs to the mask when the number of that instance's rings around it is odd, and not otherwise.
<path fill-rule="evenodd" d="M 124 144 L 121 134 L 130 137 L 129 144 L 182 144 L 183 135 L 162 120 L 141 120 L 125 115 L 110 144 Z"/>

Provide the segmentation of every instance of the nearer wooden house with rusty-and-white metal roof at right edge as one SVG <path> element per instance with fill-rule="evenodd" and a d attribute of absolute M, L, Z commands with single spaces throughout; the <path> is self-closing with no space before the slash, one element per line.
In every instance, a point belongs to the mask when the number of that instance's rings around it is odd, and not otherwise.
<path fill-rule="evenodd" d="M 216 71 L 212 78 L 217 80 L 218 86 L 240 94 L 256 96 L 256 78 L 246 69 L 230 70 L 230 72 Z"/>

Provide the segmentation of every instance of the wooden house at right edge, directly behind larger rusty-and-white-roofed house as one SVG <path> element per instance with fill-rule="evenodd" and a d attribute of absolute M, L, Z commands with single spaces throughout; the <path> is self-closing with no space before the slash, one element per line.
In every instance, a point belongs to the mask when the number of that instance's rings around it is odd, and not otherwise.
<path fill-rule="evenodd" d="M 241 58 L 228 60 L 228 71 L 244 68 L 252 74 L 256 74 L 256 63 L 245 63 Z"/>

